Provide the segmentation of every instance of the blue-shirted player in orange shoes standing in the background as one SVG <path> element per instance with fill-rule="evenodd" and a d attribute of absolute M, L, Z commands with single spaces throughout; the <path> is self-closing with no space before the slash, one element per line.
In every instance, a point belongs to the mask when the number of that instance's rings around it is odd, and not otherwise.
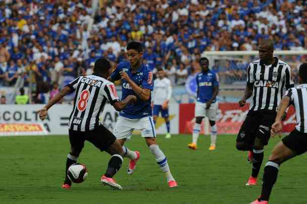
<path fill-rule="evenodd" d="M 209 118 L 211 145 L 209 150 L 215 150 L 217 126 L 215 124 L 217 115 L 216 96 L 219 89 L 218 76 L 209 70 L 209 60 L 202 57 L 199 60 L 202 72 L 196 76 L 197 82 L 197 102 L 195 105 L 196 122 L 193 129 L 193 141 L 188 145 L 190 149 L 197 149 L 197 140 L 201 130 L 201 123 L 204 117 Z"/>

